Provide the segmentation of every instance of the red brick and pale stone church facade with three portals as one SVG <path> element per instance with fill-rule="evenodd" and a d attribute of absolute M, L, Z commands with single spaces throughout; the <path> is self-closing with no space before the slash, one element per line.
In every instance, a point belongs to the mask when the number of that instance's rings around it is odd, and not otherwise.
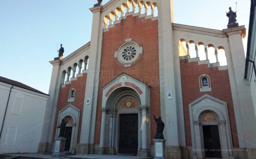
<path fill-rule="evenodd" d="M 166 158 L 253 158 L 256 118 L 244 80 L 244 26 L 173 22 L 172 0 L 110 0 L 90 8 L 91 41 L 54 60 L 38 152 L 154 156 L 165 123 Z"/>

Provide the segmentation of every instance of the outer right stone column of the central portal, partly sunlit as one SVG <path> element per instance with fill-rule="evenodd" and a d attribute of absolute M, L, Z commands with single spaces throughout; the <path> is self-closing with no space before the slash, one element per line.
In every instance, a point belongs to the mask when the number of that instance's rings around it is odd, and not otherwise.
<path fill-rule="evenodd" d="M 149 109 L 149 106 L 147 105 L 141 105 L 140 106 L 142 111 L 142 119 L 141 119 L 141 150 L 138 152 L 138 156 L 141 157 L 149 157 L 150 156 L 150 150 L 147 148 L 147 111 Z"/>

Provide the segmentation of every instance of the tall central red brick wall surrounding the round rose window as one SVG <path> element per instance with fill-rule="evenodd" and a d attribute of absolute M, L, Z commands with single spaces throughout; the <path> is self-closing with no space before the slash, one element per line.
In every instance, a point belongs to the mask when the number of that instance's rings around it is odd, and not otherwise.
<path fill-rule="evenodd" d="M 115 62 L 114 53 L 126 39 L 137 39 L 143 46 L 140 61 L 130 67 L 123 68 Z M 126 16 L 120 23 L 103 33 L 101 75 L 98 92 L 98 104 L 95 127 L 95 144 L 100 141 L 102 86 L 118 75 L 126 73 L 148 85 L 150 89 L 150 119 L 151 139 L 156 133 L 156 123 L 153 115 L 160 116 L 160 87 L 159 87 L 159 57 L 158 57 L 158 20 Z M 107 76 L 108 78 L 103 78 Z M 105 95 L 105 94 L 104 94 Z M 153 145 L 153 140 L 151 140 Z"/>

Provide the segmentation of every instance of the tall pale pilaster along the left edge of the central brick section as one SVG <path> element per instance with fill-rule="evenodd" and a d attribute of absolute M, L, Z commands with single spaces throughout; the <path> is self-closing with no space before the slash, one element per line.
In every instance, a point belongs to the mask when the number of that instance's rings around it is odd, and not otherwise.
<path fill-rule="evenodd" d="M 92 32 L 90 42 L 90 65 L 88 67 L 85 101 L 83 108 L 81 136 L 79 144 L 79 154 L 92 154 L 93 149 L 87 145 L 94 144 L 94 131 L 96 121 L 96 108 L 98 99 L 98 85 L 100 72 L 100 58 L 103 35 L 103 19 L 101 17 L 102 5 L 90 8 L 93 13 Z M 87 63 L 85 64 L 86 67 Z M 86 99 L 90 98 L 90 104 L 86 104 Z M 84 146 L 83 146 L 84 145 Z"/>

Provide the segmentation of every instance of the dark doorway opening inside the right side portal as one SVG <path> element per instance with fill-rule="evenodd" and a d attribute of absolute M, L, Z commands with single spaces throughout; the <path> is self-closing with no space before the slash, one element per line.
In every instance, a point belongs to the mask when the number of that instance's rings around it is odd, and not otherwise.
<path fill-rule="evenodd" d="M 203 135 L 205 157 L 222 158 L 219 127 L 216 125 L 203 126 Z"/>

